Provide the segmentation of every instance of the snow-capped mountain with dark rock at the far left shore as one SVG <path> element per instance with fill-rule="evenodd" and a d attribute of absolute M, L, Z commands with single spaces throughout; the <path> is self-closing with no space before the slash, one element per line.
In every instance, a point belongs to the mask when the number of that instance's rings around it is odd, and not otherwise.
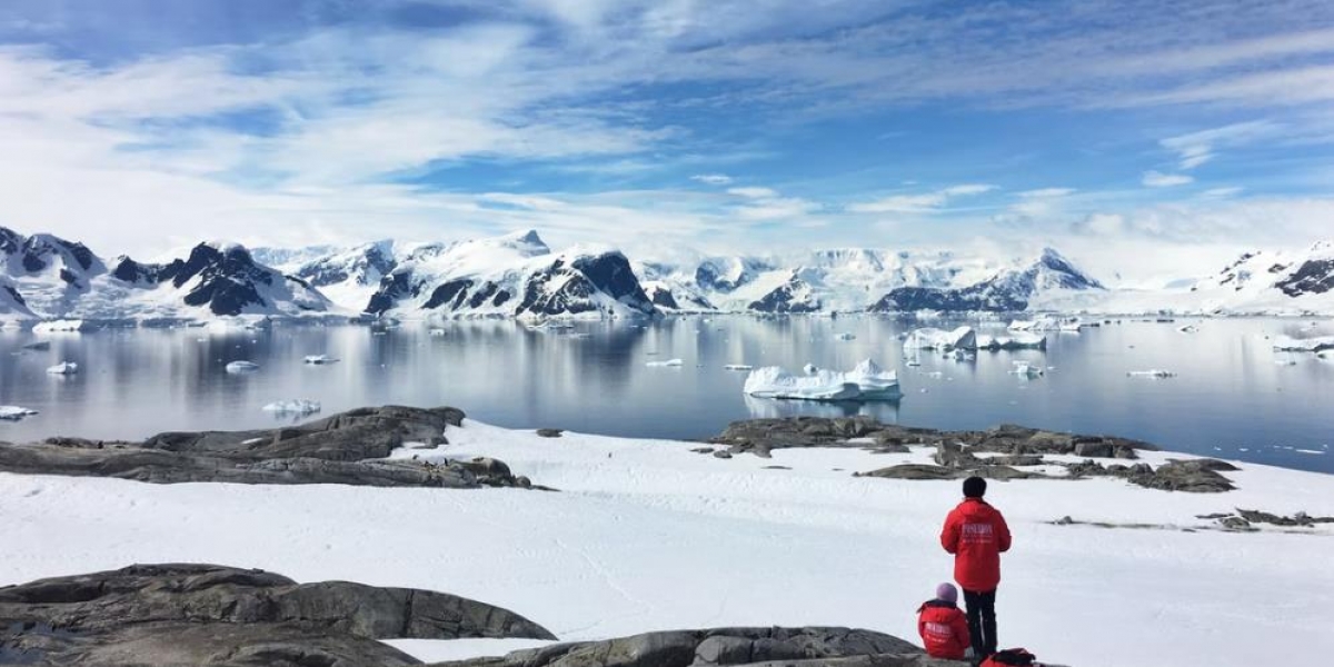
<path fill-rule="evenodd" d="M 80 243 L 0 228 L 0 316 L 152 321 L 334 309 L 304 281 L 256 263 L 235 244 L 200 244 L 164 264 L 124 256 L 111 264 Z"/>

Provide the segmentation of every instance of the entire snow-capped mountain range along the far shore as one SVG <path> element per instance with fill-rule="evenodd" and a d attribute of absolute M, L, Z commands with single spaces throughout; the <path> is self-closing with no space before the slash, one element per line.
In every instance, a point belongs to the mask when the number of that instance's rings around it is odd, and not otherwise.
<path fill-rule="evenodd" d="M 0 228 L 0 321 L 640 317 L 680 312 L 1334 312 L 1334 245 L 1254 251 L 1165 289 L 1109 288 L 1053 248 L 995 260 L 874 248 L 635 261 L 532 231 L 297 249 L 200 243 L 161 263 Z"/>

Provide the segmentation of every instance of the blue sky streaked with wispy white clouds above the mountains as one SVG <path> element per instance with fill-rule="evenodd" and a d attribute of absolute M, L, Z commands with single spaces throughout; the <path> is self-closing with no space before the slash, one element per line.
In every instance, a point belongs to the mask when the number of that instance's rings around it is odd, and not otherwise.
<path fill-rule="evenodd" d="M 7 0 L 0 225 L 115 256 L 456 240 L 1062 249 L 1334 237 L 1334 3 Z"/>

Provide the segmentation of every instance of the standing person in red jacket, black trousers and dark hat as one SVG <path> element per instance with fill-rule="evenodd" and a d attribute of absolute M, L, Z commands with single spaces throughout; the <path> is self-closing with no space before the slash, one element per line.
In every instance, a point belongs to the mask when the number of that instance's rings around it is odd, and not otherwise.
<path fill-rule="evenodd" d="M 963 480 L 963 502 L 944 519 L 940 546 L 954 554 L 954 580 L 963 588 L 968 608 L 972 655 L 996 652 L 996 587 L 1000 584 L 1000 552 L 1010 550 L 1010 527 L 995 507 L 982 499 L 987 480 Z"/>

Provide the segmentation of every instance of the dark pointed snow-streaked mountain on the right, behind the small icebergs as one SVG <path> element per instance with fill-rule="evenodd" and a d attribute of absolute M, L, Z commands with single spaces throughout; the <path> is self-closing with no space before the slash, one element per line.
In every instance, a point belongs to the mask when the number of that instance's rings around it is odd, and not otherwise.
<path fill-rule="evenodd" d="M 1105 292 L 1098 280 L 1053 248 L 1046 248 L 1030 265 L 1003 269 L 963 287 L 899 287 L 870 309 L 872 312 L 912 311 L 992 311 L 1029 309 L 1035 300 L 1055 300 L 1071 292 Z"/>

